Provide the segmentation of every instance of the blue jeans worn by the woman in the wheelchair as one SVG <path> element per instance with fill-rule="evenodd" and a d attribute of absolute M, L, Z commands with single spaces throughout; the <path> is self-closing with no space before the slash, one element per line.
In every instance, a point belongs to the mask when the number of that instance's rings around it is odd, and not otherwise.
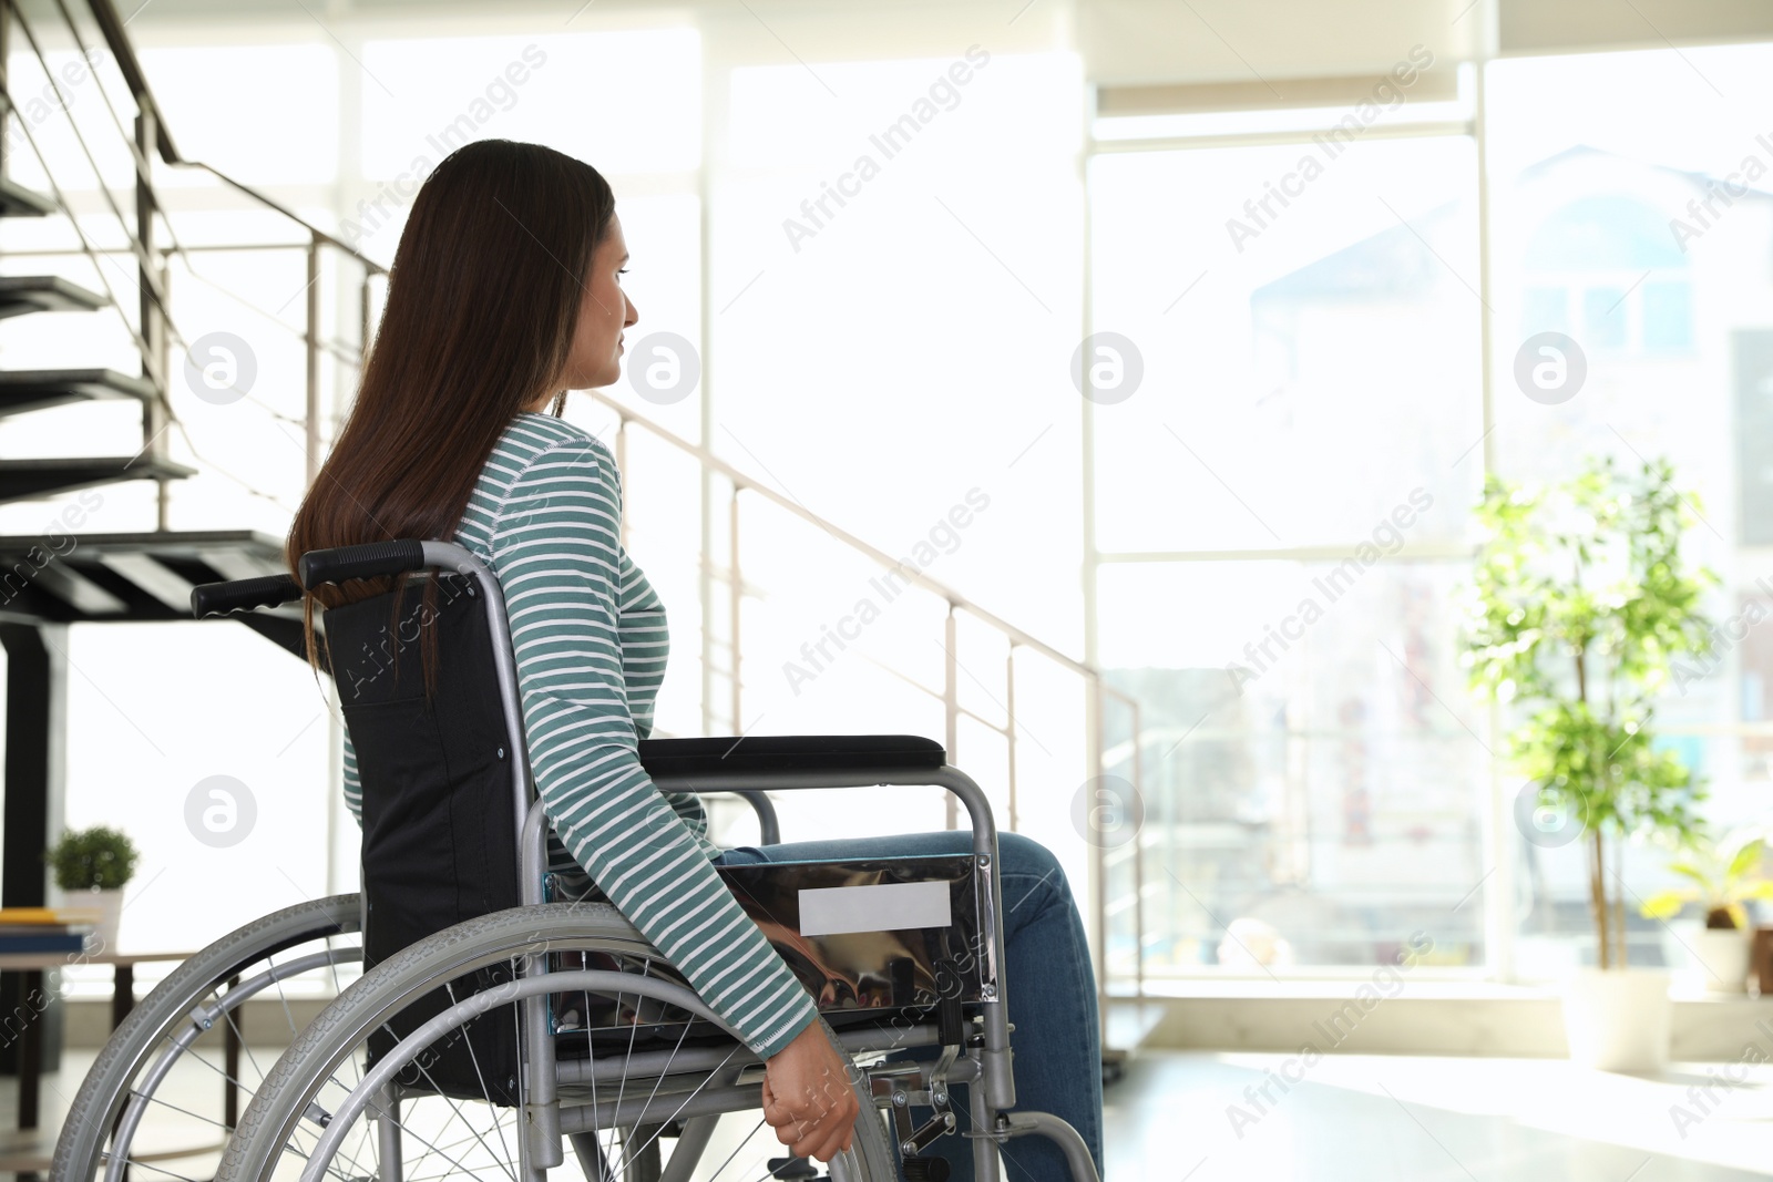
<path fill-rule="evenodd" d="M 883 838 L 832 842 L 787 842 L 741 845 L 723 851 L 725 865 L 759 861 L 824 861 L 842 858 L 915 858 L 965 854 L 972 831 L 908 833 Z M 1083 920 L 1071 898 L 1064 870 L 1044 845 L 1019 833 L 998 835 L 998 870 L 1004 888 L 1005 987 L 1009 1021 L 1016 1024 L 1016 1108 L 1053 1113 L 1083 1134 L 1103 1170 L 1103 1077 L 1096 1019 L 1096 978 L 1083 939 Z M 934 1060 L 936 1047 L 915 1047 L 894 1058 Z M 952 1092 L 957 1132 L 926 1150 L 945 1157 L 952 1182 L 973 1178 L 972 1141 L 959 1136 L 972 1127 L 968 1086 Z M 911 1109 L 920 1125 L 929 1109 Z M 1057 1145 L 1039 1134 L 1012 1138 L 998 1147 L 1009 1182 L 1069 1182 L 1071 1170 Z"/>

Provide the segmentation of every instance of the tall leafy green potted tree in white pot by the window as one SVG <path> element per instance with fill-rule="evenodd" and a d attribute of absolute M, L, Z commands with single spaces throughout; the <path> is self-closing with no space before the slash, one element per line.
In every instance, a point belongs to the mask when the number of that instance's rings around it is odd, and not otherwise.
<path fill-rule="evenodd" d="M 1672 464 L 1610 457 L 1548 487 L 1491 478 L 1479 509 L 1464 661 L 1518 723 L 1505 758 L 1525 792 L 1585 847 L 1596 962 L 1567 982 L 1564 1024 L 1571 1058 L 1610 1070 L 1668 1054 L 1668 973 L 1626 968 L 1622 858 L 1629 840 L 1690 840 L 1704 797 L 1654 743 L 1672 661 L 1711 643 L 1700 599 L 1716 576 L 1681 556 L 1693 517 Z"/>

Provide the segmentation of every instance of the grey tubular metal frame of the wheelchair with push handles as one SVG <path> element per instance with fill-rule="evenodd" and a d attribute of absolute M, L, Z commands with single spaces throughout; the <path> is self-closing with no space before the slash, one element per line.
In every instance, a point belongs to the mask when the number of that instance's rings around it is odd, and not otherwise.
<path fill-rule="evenodd" d="M 511 808 L 514 810 L 516 822 L 514 831 L 518 833 L 519 845 L 519 900 L 521 909 L 528 911 L 544 904 L 548 819 L 535 792 L 530 771 L 521 691 L 516 673 L 516 656 L 511 642 L 511 626 L 505 615 L 504 592 L 498 579 L 479 558 L 475 558 L 463 546 L 441 540 L 392 540 L 312 551 L 301 556 L 300 585 L 287 576 L 215 583 L 195 588 L 191 603 L 195 613 L 202 618 L 206 615 L 227 615 L 241 610 L 280 606 L 300 599 L 303 588 L 314 590 L 323 583 L 385 578 L 429 569 L 443 569 L 472 576 L 484 592 L 482 604 L 491 638 L 491 657 L 498 675 L 498 696 L 504 725 L 511 743 L 511 751 L 514 755 L 521 755 L 521 758 L 509 760 L 509 787 Z M 917 744 L 915 758 L 906 758 L 910 751 L 906 746 L 901 746 L 897 751 L 892 750 L 894 739 L 901 744 Z M 743 737 L 734 739 L 732 748 L 736 748 L 741 741 Z M 878 755 L 881 755 L 881 762 L 872 766 L 867 762 L 869 751 L 847 751 L 821 760 L 817 753 L 800 751 L 789 755 L 782 750 L 784 741 L 777 739 L 771 743 L 768 737 L 752 739 L 752 751 L 730 762 L 725 758 L 725 753 L 718 757 L 706 753 L 706 744 L 727 743 L 725 739 L 649 741 L 649 746 L 654 748 L 697 748 L 693 753 L 686 750 L 683 758 L 665 757 L 663 760 L 654 760 L 654 764 L 668 764 L 668 767 L 649 767 L 649 774 L 660 789 L 691 790 L 699 794 L 736 792 L 746 797 L 754 808 L 759 810 L 766 840 L 771 836 L 769 831 L 775 829 L 773 808 L 769 808 L 769 801 L 764 796 L 768 789 L 936 785 L 957 796 L 961 803 L 965 803 L 972 824 L 972 856 L 975 859 L 977 877 L 982 888 L 979 916 L 979 936 L 982 937 L 980 943 L 984 953 L 980 966 L 982 985 L 979 994 L 982 1014 L 975 1019 L 975 1023 L 979 1023 L 977 1033 L 968 1024 L 965 1028 L 965 1035 L 957 1037 L 961 1046 L 949 1046 L 933 1067 L 918 1065 L 915 1069 L 918 1088 L 927 1092 L 931 1106 L 936 1109 L 934 1120 L 931 1120 L 924 1129 L 918 1129 L 913 1138 L 899 1136 L 894 1139 L 901 1141 L 901 1152 L 913 1155 L 936 1136 L 950 1131 L 954 1122 L 952 1115 L 945 1115 L 947 1090 L 952 1083 L 966 1083 L 973 1125 L 968 1138 L 973 1143 L 975 1178 L 980 1182 L 996 1182 L 1002 1177 L 995 1145 L 1018 1136 L 1041 1134 L 1051 1139 L 1064 1152 L 1076 1182 L 1097 1182 L 1089 1148 L 1085 1147 L 1083 1138 L 1069 1124 L 1050 1113 L 1005 1111 L 1016 1104 L 1016 1085 L 1011 1063 L 1012 1028 L 1007 1019 L 1007 987 L 1004 980 L 1004 907 L 1002 881 L 996 870 L 998 838 L 989 801 L 966 773 L 947 764 L 947 757 L 940 746 L 929 741 L 904 737 L 865 737 L 860 743 L 867 744 L 871 741 L 881 748 L 878 751 Z M 794 741 L 791 739 L 787 743 L 793 744 Z M 771 751 L 771 746 L 777 750 Z M 732 748 L 729 748 L 727 753 L 730 753 Z M 367 902 L 363 906 L 367 906 Z M 466 929 L 472 923 L 473 920 L 457 925 L 457 929 Z M 447 930 L 454 932 L 457 929 Z M 441 936 L 441 932 L 438 936 Z M 420 941 L 420 945 L 426 943 L 429 941 Z M 410 946 L 410 950 L 413 948 L 418 948 L 418 945 Z M 383 964 L 388 962 L 385 960 Z M 725 1026 L 706 1008 L 704 1003 L 700 1003 L 693 991 L 676 985 L 660 989 L 660 985 L 668 984 L 651 982 L 649 989 L 656 991 L 661 999 L 681 1005 L 690 1012 L 702 1014 Z M 555 1040 L 550 1028 L 548 994 L 560 989 L 612 987 L 633 992 L 635 978 L 633 975 L 608 971 L 550 971 L 548 952 L 543 948 L 521 955 L 516 980 L 498 989 L 472 994 L 457 1001 L 422 1028 L 429 1030 L 436 1026 L 441 1030 L 450 1024 L 461 1024 L 473 1014 L 512 1001 L 518 1003 L 518 1070 L 521 1074 L 523 1108 L 519 1124 L 523 1132 L 516 1139 L 521 1182 L 544 1182 L 548 1168 L 564 1164 L 562 1136 L 576 1132 L 573 1125 L 582 1124 L 583 1118 L 573 1118 L 571 1109 L 567 1109 L 567 1120 L 562 1120 L 564 1113 L 558 1086 L 562 1081 L 573 1083 L 580 1076 L 585 1079 L 596 1077 L 598 1072 L 596 1060 L 566 1065 L 557 1061 Z M 356 985 L 353 985 L 353 989 L 356 989 Z M 344 999 L 344 996 L 346 994 L 340 994 L 340 999 Z M 316 1023 L 316 1026 L 319 1026 L 319 1023 Z M 901 1038 L 894 1044 L 894 1047 L 929 1046 L 933 1042 L 947 1044 L 949 1038 L 956 1037 L 952 1033 L 949 1037 L 940 1037 L 934 1031 L 936 1028 L 933 1024 L 915 1028 L 910 1040 Z M 420 1033 L 422 1031 L 415 1031 L 410 1038 L 417 1038 Z M 729 1033 L 732 1031 L 729 1030 Z M 878 1042 L 871 1042 L 867 1038 L 869 1033 L 872 1031 L 839 1035 L 839 1047 L 853 1051 L 878 1047 Z M 411 1054 L 417 1054 L 417 1051 Z M 285 1054 L 285 1060 L 289 1056 Z M 397 1113 L 399 1093 L 395 1085 L 392 1085 L 392 1077 L 401 1067 L 401 1058 L 402 1056 L 399 1054 L 388 1054 L 369 1072 L 369 1076 L 365 1076 L 362 1083 L 356 1085 L 346 1106 L 332 1116 L 333 1132 L 342 1138 L 346 1127 L 351 1124 L 349 1118 L 362 1115 L 363 1109 L 371 1106 L 383 1115 Z M 679 1063 L 683 1063 L 681 1058 Z M 624 1070 L 626 1067 L 628 1063 L 624 1063 Z M 927 1079 L 922 1074 L 926 1070 L 929 1072 Z M 881 1097 L 878 1106 L 885 1108 L 886 1104 L 894 1104 L 902 1108 L 910 1099 L 904 1095 L 906 1085 L 902 1083 L 906 1074 L 906 1067 L 888 1067 L 863 1072 L 863 1077 L 871 1081 L 871 1088 L 878 1097 Z M 269 1083 L 271 1081 L 268 1081 L 268 1088 Z M 881 1088 L 879 1085 L 886 1086 Z M 718 1113 L 730 1109 L 711 1108 L 709 1111 Z M 697 1113 L 684 1111 L 684 1115 L 695 1116 Z M 871 1115 L 867 1111 L 863 1113 L 863 1118 L 879 1120 L 878 1115 Z M 947 1120 L 945 1127 L 933 1127 L 943 1118 Z M 245 1124 L 248 1122 L 243 1122 L 243 1125 Z M 378 1127 L 383 1138 L 392 1132 L 392 1161 L 397 1163 L 397 1122 L 383 1118 L 378 1122 Z M 899 1132 L 902 1132 L 902 1125 L 899 1127 Z M 319 1150 L 321 1145 L 316 1147 L 316 1163 L 323 1164 L 324 1159 L 321 1159 Z M 230 1150 L 229 1159 L 232 1157 L 234 1154 Z M 223 1163 L 223 1173 L 225 1171 L 227 1161 Z M 310 1163 L 307 1173 L 316 1171 L 317 1164 Z M 307 1177 L 307 1173 L 303 1177 Z"/>

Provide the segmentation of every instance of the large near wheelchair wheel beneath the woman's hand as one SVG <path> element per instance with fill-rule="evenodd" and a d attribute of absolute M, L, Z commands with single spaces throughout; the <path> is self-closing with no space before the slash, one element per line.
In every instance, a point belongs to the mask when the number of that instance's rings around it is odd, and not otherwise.
<path fill-rule="evenodd" d="M 534 955 L 551 957 L 551 969 L 519 976 Z M 475 980 L 480 992 L 461 992 Z M 488 1060 L 491 1042 L 473 1024 L 502 1024 L 514 1038 L 512 1001 L 527 996 L 546 996 L 558 1026 L 558 1132 L 541 1141 L 567 1164 L 576 1157 L 592 1182 L 817 1177 L 817 1163 L 789 1159 L 762 1120 L 755 1056 L 603 904 L 514 907 L 447 929 L 378 964 L 303 1030 L 241 1116 L 216 1182 L 518 1178 L 530 1122 L 546 1127 L 555 1113 L 500 1093 L 507 1069 Z M 426 999 L 436 1012 L 415 1024 L 410 1012 Z M 573 1054 L 574 1030 L 589 1054 Z M 431 1074 L 461 1053 L 479 1093 L 461 1086 L 459 1070 L 454 1085 Z M 855 1090 L 862 1113 L 830 1177 L 895 1178 L 867 1076 L 851 1072 L 840 1086 Z"/>

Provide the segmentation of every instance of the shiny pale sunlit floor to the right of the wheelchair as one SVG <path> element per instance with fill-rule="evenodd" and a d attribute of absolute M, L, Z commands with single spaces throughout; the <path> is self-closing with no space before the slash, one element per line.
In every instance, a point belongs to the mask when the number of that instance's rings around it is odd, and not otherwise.
<path fill-rule="evenodd" d="M 1106 1093 L 1105 1182 L 1773 1177 L 1773 1070 L 1753 1069 L 1741 1086 L 1714 1072 L 1695 1063 L 1644 1079 L 1558 1060 L 1402 1056 L 1305 1067 L 1282 1054 L 1147 1051 Z M 1690 1099 L 1707 1086 L 1711 1099 Z"/>

